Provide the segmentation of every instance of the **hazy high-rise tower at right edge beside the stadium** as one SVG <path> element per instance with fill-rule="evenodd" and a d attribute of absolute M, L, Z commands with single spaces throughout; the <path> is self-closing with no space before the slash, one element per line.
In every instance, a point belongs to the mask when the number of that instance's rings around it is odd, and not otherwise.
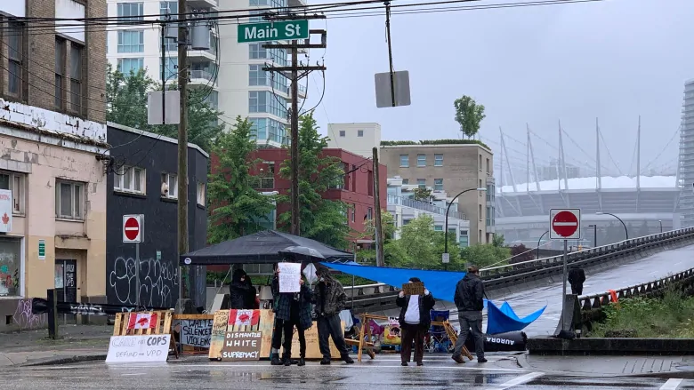
<path fill-rule="evenodd" d="M 694 226 L 694 79 L 684 84 L 677 181 L 682 188 L 682 226 Z"/>

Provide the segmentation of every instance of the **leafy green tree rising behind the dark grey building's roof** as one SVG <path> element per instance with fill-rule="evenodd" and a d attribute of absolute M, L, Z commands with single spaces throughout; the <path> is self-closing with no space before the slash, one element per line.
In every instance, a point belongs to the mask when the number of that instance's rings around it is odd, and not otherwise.
<path fill-rule="evenodd" d="M 137 73 L 132 70 L 125 75 L 108 65 L 106 75 L 106 120 L 135 129 L 178 138 L 178 125 L 147 123 L 147 94 L 161 91 L 161 84 L 147 75 L 145 69 Z M 175 84 L 168 88 L 175 88 Z M 210 107 L 205 101 L 209 91 L 206 88 L 190 88 L 188 105 L 188 140 L 210 152 L 215 140 L 224 129 L 218 123 L 222 112 Z"/>

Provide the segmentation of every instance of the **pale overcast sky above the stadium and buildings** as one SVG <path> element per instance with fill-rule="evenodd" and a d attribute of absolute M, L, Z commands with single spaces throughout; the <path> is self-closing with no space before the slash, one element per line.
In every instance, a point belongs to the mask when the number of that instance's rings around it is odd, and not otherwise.
<path fill-rule="evenodd" d="M 453 101 L 470 95 L 486 107 L 480 136 L 496 164 L 501 126 L 522 177 L 526 123 L 537 134 L 538 164 L 557 156 L 561 120 L 580 146 L 563 139 L 567 162 L 594 169 L 596 117 L 607 145 L 601 147 L 603 174 L 617 174 L 609 149 L 622 173 L 633 175 L 641 115 L 642 168 L 674 171 L 684 82 L 694 78 L 692 16 L 694 0 L 394 14 L 394 66 L 409 71 L 412 91 L 412 105 L 395 108 L 375 107 L 374 74 L 388 71 L 384 16 L 314 20 L 311 28 L 327 23 L 328 46 L 325 54 L 311 51 L 312 63 L 325 56 L 327 66 L 316 117 L 324 132 L 327 123 L 376 122 L 383 139 L 459 138 Z M 318 72 L 309 83 L 306 108 L 318 103 L 323 88 Z"/>

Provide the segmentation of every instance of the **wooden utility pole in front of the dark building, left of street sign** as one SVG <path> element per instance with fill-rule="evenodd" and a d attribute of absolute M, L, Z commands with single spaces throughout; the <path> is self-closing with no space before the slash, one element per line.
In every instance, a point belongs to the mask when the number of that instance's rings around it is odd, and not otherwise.
<path fill-rule="evenodd" d="M 178 0 L 178 87 L 181 122 L 178 124 L 178 254 L 188 253 L 188 21 L 187 0 Z M 162 64 L 164 66 L 164 64 Z M 188 267 L 186 267 L 187 269 Z M 181 270 L 179 270 L 181 271 Z M 179 299 L 183 298 L 182 274 Z M 190 294 L 190 291 L 189 291 Z M 181 300 L 179 300 L 181 302 Z M 182 309 L 182 307 L 181 307 Z"/>

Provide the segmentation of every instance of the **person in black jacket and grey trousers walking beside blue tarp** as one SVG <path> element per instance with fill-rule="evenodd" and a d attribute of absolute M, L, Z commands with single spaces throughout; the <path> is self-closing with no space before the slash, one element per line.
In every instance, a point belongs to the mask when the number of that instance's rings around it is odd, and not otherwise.
<path fill-rule="evenodd" d="M 484 334 L 482 333 L 482 309 L 484 309 L 484 285 L 480 279 L 480 269 L 475 266 L 467 268 L 467 274 L 456 285 L 454 301 L 458 308 L 458 322 L 460 322 L 460 335 L 453 349 L 453 360 L 464 363 L 460 351 L 465 345 L 468 332 L 472 333 L 475 340 L 475 354 L 477 362 L 487 362 L 484 358 Z"/>

